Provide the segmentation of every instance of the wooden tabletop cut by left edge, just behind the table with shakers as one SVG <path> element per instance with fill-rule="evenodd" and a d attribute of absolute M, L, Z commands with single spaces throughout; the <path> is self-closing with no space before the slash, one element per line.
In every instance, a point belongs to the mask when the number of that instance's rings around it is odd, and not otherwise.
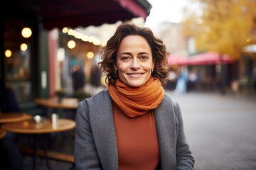
<path fill-rule="evenodd" d="M 14 123 L 32 119 L 28 113 L 0 113 L 0 123 Z"/>

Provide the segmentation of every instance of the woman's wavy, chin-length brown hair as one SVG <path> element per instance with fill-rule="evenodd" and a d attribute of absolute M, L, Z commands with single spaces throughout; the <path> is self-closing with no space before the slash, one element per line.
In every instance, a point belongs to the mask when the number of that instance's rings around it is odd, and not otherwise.
<path fill-rule="evenodd" d="M 166 83 L 166 79 L 169 76 L 171 68 L 168 65 L 169 52 L 166 52 L 166 46 L 163 41 L 156 38 L 152 31 L 146 27 L 136 26 L 132 21 L 125 21 L 117 27 L 116 32 L 107 41 L 107 45 L 102 47 L 100 69 L 106 74 L 106 83 L 115 84 L 115 81 L 119 79 L 118 74 L 115 73 L 114 64 L 117 62 L 117 50 L 124 38 L 129 35 L 140 35 L 146 39 L 151 47 L 154 72 L 152 77 L 158 78 L 162 84 Z"/>

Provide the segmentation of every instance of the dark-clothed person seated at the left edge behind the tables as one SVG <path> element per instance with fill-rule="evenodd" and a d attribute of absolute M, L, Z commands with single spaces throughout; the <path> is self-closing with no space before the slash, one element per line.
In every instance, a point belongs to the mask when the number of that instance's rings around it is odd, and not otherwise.
<path fill-rule="evenodd" d="M 1 113 L 20 113 L 21 108 L 14 91 L 5 86 L 0 79 L 0 111 Z M 22 157 L 18 149 L 17 136 L 15 133 L 7 132 L 0 140 L 0 168 L 1 170 L 22 169 Z"/>

